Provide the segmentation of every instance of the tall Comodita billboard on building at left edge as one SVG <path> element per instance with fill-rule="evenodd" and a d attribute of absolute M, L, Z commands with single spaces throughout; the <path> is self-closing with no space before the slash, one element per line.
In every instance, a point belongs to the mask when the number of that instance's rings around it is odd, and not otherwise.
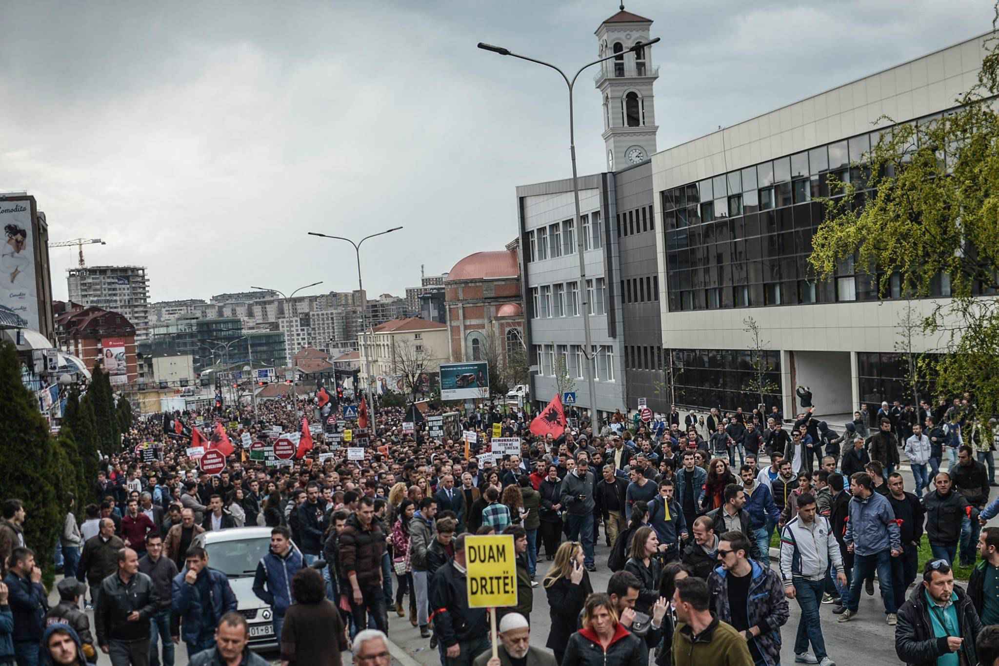
<path fill-rule="evenodd" d="M 38 288 L 35 280 L 35 235 L 30 199 L 0 199 L 0 306 L 5 306 L 39 330 Z"/>

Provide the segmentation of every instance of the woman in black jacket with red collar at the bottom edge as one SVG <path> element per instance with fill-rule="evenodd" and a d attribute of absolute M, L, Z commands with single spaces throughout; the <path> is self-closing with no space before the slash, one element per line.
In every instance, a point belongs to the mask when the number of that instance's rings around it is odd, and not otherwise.
<path fill-rule="evenodd" d="M 572 634 L 563 664 L 571 666 L 647 666 L 644 641 L 617 621 L 617 611 L 605 592 L 586 597 L 582 629 Z"/>

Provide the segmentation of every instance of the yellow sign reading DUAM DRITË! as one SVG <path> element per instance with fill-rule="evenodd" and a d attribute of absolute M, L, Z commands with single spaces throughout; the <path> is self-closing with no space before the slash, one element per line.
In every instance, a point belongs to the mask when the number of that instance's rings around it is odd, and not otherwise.
<path fill-rule="evenodd" d="M 516 562 L 513 535 L 465 537 L 469 607 L 516 605 Z"/>

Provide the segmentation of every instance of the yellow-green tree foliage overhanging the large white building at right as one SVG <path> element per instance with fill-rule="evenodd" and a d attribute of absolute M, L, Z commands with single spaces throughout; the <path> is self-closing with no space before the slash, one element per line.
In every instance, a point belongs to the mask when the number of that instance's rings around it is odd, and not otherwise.
<path fill-rule="evenodd" d="M 993 27 L 995 27 L 993 25 Z M 830 185 L 825 221 L 808 261 L 820 280 L 841 263 L 866 273 L 884 298 L 932 291 L 953 299 L 933 304 L 923 319 L 942 351 L 929 360 L 940 394 L 971 391 L 976 411 L 999 411 L 999 41 L 978 83 L 959 105 L 930 122 L 894 124 L 881 131 L 848 183 Z M 867 190 L 867 192 L 862 192 Z M 894 288 L 892 287 L 894 285 Z"/>

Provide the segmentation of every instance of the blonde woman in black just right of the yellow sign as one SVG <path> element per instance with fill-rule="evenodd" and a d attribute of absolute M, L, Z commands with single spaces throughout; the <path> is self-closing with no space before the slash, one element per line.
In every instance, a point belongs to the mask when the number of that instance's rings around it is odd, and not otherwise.
<path fill-rule="evenodd" d="M 555 653 L 555 662 L 561 664 L 568 637 L 575 631 L 575 623 L 586 597 L 593 593 L 589 582 L 589 572 L 582 565 L 582 545 L 578 541 L 566 541 L 558 546 L 554 554 L 554 564 L 541 581 L 544 593 L 548 596 L 548 614 L 551 628 L 545 647 Z"/>

